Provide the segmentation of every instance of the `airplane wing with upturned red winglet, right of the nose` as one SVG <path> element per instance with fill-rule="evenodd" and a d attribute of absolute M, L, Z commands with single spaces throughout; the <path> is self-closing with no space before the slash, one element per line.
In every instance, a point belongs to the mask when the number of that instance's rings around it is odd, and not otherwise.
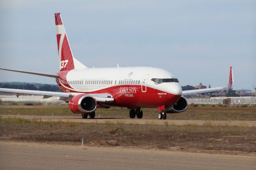
<path fill-rule="evenodd" d="M 233 87 L 233 83 L 234 83 L 233 70 L 232 70 L 232 67 L 230 67 L 229 82 L 227 87 L 214 87 L 214 88 L 208 88 L 208 89 L 186 90 L 186 91 L 182 91 L 182 95 L 186 96 L 186 95 L 194 95 L 194 94 L 200 94 L 200 93 L 209 93 L 213 91 L 223 91 L 223 90 L 227 90 L 229 87 Z"/>

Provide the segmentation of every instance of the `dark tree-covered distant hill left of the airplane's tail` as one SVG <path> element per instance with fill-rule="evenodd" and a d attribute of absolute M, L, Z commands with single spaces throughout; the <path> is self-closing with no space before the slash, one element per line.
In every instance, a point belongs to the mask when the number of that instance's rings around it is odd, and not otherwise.
<path fill-rule="evenodd" d="M 41 83 L 0 82 L 0 88 L 62 92 L 58 85 Z"/>

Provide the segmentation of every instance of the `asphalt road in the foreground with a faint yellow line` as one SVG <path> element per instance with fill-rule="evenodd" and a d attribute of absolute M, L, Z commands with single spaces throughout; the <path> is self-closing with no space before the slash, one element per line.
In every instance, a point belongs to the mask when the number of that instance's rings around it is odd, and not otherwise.
<path fill-rule="evenodd" d="M 256 156 L 0 141 L 0 169 L 255 170 Z"/>

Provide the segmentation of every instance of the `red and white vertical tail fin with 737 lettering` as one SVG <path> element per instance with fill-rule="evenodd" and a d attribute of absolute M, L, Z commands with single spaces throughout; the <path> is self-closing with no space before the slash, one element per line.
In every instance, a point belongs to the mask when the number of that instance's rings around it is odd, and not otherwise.
<path fill-rule="evenodd" d="M 86 68 L 74 58 L 60 13 L 55 13 L 60 71 Z"/>

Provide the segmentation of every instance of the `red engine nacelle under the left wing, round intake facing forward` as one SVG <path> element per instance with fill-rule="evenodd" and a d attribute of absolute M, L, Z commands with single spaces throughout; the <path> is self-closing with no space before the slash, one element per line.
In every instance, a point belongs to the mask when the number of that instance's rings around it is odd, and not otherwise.
<path fill-rule="evenodd" d="M 74 96 L 69 102 L 68 107 L 73 113 L 92 113 L 96 110 L 96 100 L 85 94 Z"/>

